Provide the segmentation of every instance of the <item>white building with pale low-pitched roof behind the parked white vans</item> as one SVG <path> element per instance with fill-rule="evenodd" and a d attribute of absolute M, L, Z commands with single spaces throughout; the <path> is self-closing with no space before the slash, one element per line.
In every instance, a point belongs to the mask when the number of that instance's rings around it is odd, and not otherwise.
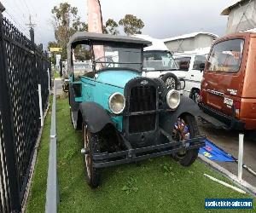
<path fill-rule="evenodd" d="M 216 38 L 218 36 L 210 32 L 193 32 L 178 37 L 165 38 L 162 41 L 173 53 L 182 53 L 187 51 L 195 52 L 198 49 L 209 49 Z"/>

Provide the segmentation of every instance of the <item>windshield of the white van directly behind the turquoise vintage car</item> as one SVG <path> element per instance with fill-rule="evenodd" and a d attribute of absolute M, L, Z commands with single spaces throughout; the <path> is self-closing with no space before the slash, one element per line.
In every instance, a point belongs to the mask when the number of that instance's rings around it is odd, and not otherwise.
<path fill-rule="evenodd" d="M 177 70 L 177 63 L 168 51 L 146 51 L 143 53 L 143 66 L 150 71 Z"/>

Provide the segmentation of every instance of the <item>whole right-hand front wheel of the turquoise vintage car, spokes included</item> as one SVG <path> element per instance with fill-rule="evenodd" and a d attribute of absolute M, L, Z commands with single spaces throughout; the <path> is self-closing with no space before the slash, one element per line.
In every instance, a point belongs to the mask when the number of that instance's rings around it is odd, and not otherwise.
<path fill-rule="evenodd" d="M 185 114 L 177 118 L 177 123 L 172 131 L 172 139 L 174 141 L 183 141 L 200 135 L 195 117 Z M 189 166 L 195 162 L 198 156 L 199 148 L 189 149 L 183 152 L 175 153 L 174 158 L 183 166 Z"/>

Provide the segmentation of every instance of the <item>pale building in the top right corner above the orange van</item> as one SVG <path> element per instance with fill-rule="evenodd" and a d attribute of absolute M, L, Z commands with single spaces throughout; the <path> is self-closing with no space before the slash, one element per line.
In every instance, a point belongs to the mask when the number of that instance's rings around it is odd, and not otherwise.
<path fill-rule="evenodd" d="M 256 0 L 236 0 L 221 13 L 229 15 L 226 33 L 256 30 Z"/>

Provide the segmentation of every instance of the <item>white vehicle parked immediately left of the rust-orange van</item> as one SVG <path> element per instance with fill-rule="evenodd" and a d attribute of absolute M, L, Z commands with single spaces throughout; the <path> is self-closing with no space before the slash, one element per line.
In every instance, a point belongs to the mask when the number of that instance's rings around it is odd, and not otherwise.
<path fill-rule="evenodd" d="M 181 72 L 185 76 L 183 94 L 198 103 L 200 101 L 201 79 L 207 61 L 207 55 L 200 53 L 179 53 L 174 54 L 173 58 L 179 67 L 177 73 Z"/>

